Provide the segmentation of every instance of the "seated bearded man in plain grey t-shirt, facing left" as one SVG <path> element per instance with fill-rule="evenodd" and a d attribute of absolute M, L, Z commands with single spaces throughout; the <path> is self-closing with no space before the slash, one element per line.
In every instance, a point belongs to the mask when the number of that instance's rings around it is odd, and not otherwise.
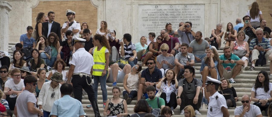
<path fill-rule="evenodd" d="M 195 40 L 189 45 L 189 53 L 195 56 L 195 63 L 201 63 L 202 59 L 206 57 L 206 49 L 210 48 L 209 43 L 202 39 L 202 32 L 196 32 Z"/>

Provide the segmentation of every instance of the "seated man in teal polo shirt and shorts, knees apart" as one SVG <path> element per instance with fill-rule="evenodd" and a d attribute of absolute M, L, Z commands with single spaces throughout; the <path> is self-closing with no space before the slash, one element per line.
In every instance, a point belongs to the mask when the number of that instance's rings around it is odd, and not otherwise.
<path fill-rule="evenodd" d="M 217 67 L 219 76 L 229 79 L 229 83 L 236 83 L 234 78 L 243 72 L 242 65 L 244 61 L 233 54 L 229 46 L 225 46 L 223 51 L 224 54 L 219 56 L 221 64 Z"/>

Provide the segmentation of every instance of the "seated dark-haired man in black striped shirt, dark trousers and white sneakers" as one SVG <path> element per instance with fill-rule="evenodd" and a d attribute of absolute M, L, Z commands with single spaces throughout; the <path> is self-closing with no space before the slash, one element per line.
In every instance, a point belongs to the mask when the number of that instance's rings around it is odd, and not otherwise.
<path fill-rule="evenodd" d="M 180 115 L 184 115 L 184 107 L 192 105 L 196 115 L 199 113 L 201 107 L 202 94 L 202 82 L 199 79 L 194 78 L 195 69 L 192 66 L 184 66 L 184 78 L 178 83 L 179 89 L 176 97 L 176 103 L 180 105 Z"/>

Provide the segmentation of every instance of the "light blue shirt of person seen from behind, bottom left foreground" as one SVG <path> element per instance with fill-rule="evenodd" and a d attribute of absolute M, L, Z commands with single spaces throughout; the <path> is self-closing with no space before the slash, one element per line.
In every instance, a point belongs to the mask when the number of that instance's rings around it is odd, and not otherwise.
<path fill-rule="evenodd" d="M 78 117 L 84 115 L 84 110 L 80 101 L 70 95 L 64 95 L 53 104 L 50 115 L 58 117 Z"/>

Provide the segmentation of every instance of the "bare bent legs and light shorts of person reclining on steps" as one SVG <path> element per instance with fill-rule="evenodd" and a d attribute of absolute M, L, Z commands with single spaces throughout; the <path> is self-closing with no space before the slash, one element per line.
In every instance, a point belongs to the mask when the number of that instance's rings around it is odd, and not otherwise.
<path fill-rule="evenodd" d="M 123 69 L 121 69 L 118 63 L 111 63 L 108 67 L 107 81 L 113 82 L 112 86 L 116 86 L 116 83 L 123 83 L 124 76 L 131 73 L 131 66 L 126 64 Z"/>

